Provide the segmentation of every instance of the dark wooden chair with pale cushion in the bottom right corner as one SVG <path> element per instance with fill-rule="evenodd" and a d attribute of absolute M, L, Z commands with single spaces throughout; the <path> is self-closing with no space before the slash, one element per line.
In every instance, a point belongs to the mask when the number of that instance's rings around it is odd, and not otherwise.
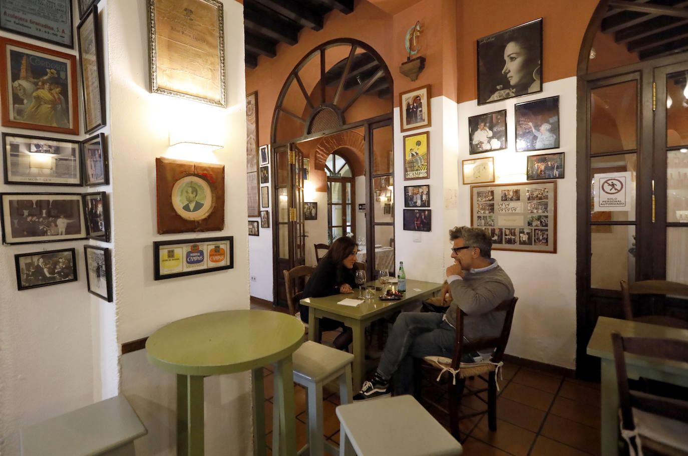
<path fill-rule="evenodd" d="M 621 435 L 631 455 L 688 456 L 688 402 L 632 391 L 625 353 L 688 362 L 688 342 L 671 339 L 623 338 L 612 334 L 616 382 L 619 384 Z"/>

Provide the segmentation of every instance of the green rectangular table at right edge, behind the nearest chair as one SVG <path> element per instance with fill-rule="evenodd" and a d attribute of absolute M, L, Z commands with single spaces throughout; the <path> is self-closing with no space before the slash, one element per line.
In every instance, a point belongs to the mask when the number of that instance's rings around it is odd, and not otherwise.
<path fill-rule="evenodd" d="M 619 391 L 614 368 L 612 333 L 623 337 L 667 338 L 688 341 L 688 329 L 663 327 L 657 324 L 600 317 L 588 342 L 588 355 L 599 357 L 602 366 L 601 383 L 601 454 L 619 454 Z M 688 387 L 688 363 L 659 360 L 644 356 L 626 355 L 629 378 L 652 378 Z"/>

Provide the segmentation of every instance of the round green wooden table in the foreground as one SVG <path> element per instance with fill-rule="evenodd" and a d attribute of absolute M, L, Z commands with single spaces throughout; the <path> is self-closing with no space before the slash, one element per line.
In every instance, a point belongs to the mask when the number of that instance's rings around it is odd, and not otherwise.
<path fill-rule="evenodd" d="M 291 315 L 252 310 L 204 313 L 155 331 L 146 342 L 149 362 L 177 374 L 177 454 L 204 453 L 203 378 L 250 370 L 255 454 L 266 455 L 263 366 L 274 363 L 275 396 L 282 399 L 280 454 L 295 456 L 292 353 L 303 343 L 303 332 Z"/>

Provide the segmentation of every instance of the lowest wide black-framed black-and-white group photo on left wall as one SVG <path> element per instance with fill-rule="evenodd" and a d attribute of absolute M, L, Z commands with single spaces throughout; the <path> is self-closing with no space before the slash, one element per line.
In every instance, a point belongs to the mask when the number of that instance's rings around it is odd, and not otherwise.
<path fill-rule="evenodd" d="M 74 248 L 18 253 L 14 256 L 17 289 L 28 290 L 76 281 Z"/>

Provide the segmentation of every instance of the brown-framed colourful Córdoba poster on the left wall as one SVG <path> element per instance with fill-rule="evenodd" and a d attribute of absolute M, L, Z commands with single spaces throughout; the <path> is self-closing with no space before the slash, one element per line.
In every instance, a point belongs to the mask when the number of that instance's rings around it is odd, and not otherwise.
<path fill-rule="evenodd" d="M 79 134 L 76 56 L 1 37 L 0 52 L 2 125 Z"/>

